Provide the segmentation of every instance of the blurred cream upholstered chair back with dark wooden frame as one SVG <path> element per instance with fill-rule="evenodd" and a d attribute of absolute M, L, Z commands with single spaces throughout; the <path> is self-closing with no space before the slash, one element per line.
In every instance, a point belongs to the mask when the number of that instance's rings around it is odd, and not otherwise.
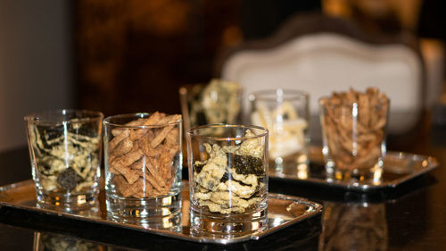
<path fill-rule="evenodd" d="M 320 140 L 318 98 L 334 91 L 376 87 L 391 99 L 389 134 L 416 127 L 425 104 L 424 66 L 416 39 L 368 34 L 351 21 L 299 15 L 269 38 L 222 54 L 220 78 L 254 90 L 295 88 L 310 94 L 310 135 Z"/>

